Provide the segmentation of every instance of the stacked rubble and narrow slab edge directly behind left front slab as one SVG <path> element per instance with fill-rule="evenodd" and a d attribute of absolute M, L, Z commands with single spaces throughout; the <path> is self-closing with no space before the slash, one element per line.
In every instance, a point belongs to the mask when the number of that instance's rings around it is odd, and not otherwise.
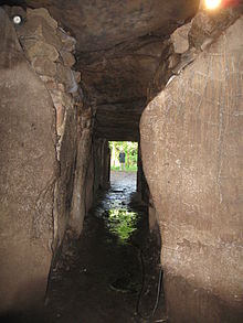
<path fill-rule="evenodd" d="M 19 8 L 12 8 L 11 15 Z M 22 10 L 20 11 L 22 13 Z M 24 13 L 22 13 L 23 15 Z M 76 41 L 59 28 L 46 9 L 27 9 L 24 23 L 15 26 L 24 55 L 43 80 L 55 108 L 56 159 L 59 179 L 54 197 L 53 250 L 60 246 L 70 220 L 77 154 L 78 112 L 82 103 L 77 82 L 80 74 L 72 69 Z"/>

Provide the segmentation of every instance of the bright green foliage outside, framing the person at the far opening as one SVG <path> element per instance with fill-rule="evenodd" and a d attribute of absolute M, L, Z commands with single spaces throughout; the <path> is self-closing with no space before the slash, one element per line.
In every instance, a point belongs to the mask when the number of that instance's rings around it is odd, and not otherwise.
<path fill-rule="evenodd" d="M 119 153 L 124 151 L 126 154 L 125 171 L 137 171 L 138 159 L 138 143 L 131 141 L 109 141 L 109 148 L 112 151 L 110 169 L 113 171 L 120 170 Z"/>

